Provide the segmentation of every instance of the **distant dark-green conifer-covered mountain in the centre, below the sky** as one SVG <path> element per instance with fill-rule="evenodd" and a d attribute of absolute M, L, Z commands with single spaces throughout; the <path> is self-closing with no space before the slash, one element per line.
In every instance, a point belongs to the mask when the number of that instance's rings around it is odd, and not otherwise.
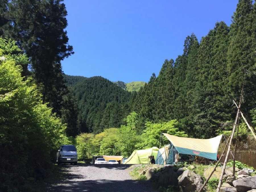
<path fill-rule="evenodd" d="M 130 93 L 103 77 L 65 75 L 77 100 L 79 132 L 120 127 L 129 112 Z"/>

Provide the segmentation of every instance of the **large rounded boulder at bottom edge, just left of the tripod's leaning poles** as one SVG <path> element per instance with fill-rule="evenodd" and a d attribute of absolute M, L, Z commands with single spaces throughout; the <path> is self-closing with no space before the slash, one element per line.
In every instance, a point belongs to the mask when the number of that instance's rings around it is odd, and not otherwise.
<path fill-rule="evenodd" d="M 178 177 L 178 180 L 183 192 L 199 191 L 203 186 L 202 177 L 190 170 L 184 171 L 183 174 Z"/>

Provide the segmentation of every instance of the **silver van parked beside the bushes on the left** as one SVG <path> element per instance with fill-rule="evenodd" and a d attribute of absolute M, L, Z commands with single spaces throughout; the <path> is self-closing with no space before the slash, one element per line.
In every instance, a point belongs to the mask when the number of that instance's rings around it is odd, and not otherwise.
<path fill-rule="evenodd" d="M 77 149 L 74 145 L 61 145 L 56 155 L 57 164 L 77 164 Z"/>

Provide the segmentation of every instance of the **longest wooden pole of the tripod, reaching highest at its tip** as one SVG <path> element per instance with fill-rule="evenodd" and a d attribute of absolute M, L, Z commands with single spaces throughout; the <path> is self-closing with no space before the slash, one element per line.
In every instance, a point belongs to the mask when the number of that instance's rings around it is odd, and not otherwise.
<path fill-rule="evenodd" d="M 232 139 L 233 139 L 233 136 L 234 136 L 234 133 L 235 133 L 236 123 L 237 123 L 238 117 L 239 117 L 239 115 L 240 115 L 240 107 L 241 107 L 242 94 L 243 94 L 243 88 L 242 88 L 242 91 L 241 91 L 240 102 L 239 102 L 238 110 L 237 110 L 237 113 L 236 113 L 235 123 L 234 123 L 234 125 L 233 125 L 233 130 L 232 130 L 232 133 L 231 133 L 231 136 L 230 136 L 230 140 L 229 140 L 229 144 L 228 144 L 228 151 L 227 151 L 226 158 L 225 158 L 225 161 L 224 161 L 224 164 L 223 164 L 223 168 L 222 168 L 222 171 L 221 171 L 220 180 L 219 180 L 219 184 L 218 184 L 218 187 L 217 187 L 217 189 L 216 189 L 216 192 L 219 192 L 219 191 L 220 191 L 220 187 L 221 187 L 221 184 L 222 184 L 223 175 L 224 175 L 224 172 L 225 172 L 225 169 L 226 169 L 226 164 L 227 164 L 227 160 L 228 160 L 228 155 L 229 155 L 229 153 L 230 153 L 231 142 L 232 142 Z"/>

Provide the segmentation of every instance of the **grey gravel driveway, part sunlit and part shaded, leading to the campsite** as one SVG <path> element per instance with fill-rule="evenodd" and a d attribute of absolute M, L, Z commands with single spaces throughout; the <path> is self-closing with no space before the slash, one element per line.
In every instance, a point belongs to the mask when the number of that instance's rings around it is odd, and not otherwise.
<path fill-rule="evenodd" d="M 135 181 L 129 175 L 130 165 L 63 165 L 65 178 L 47 191 L 154 191 L 149 181 Z"/>

